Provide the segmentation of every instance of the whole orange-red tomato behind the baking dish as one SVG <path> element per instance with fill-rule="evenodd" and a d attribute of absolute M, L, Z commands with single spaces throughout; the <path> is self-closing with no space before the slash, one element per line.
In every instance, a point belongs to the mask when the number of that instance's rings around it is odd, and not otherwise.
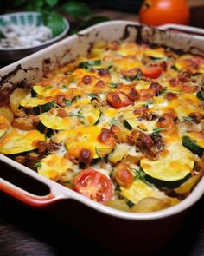
<path fill-rule="evenodd" d="M 141 23 L 153 26 L 165 23 L 188 24 L 187 0 L 144 0 L 139 19 Z"/>

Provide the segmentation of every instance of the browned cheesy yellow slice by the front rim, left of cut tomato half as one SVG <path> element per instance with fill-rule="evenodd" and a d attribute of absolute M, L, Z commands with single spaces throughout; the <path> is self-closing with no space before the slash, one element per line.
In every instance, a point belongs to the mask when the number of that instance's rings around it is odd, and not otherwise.
<path fill-rule="evenodd" d="M 54 181 L 63 180 L 63 176 L 73 169 L 73 163 L 60 154 L 49 154 L 41 159 L 37 172 Z"/>

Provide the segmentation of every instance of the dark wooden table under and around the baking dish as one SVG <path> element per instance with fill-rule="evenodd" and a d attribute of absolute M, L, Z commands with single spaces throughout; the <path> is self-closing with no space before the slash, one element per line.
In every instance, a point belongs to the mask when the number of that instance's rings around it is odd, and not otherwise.
<path fill-rule="evenodd" d="M 135 14 L 112 10 L 99 12 L 112 19 L 137 20 Z M 203 13 L 204 6 L 192 8 L 190 24 L 204 28 Z M 3 167 L 0 165 L 0 170 Z M 48 211 L 36 211 L 0 194 L 0 256 L 100 256 L 110 253 L 112 252 L 76 232 L 66 221 L 54 217 Z M 112 253 L 114 255 L 116 254 Z M 150 256 L 173 255 L 204 255 L 204 198 L 194 205 L 168 244 L 160 251 L 150 253 Z"/>

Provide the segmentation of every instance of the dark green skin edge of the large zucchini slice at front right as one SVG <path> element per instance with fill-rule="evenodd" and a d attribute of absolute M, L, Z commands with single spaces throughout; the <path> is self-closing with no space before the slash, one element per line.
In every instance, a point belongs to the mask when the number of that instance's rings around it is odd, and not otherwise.
<path fill-rule="evenodd" d="M 191 174 L 187 174 L 183 179 L 178 180 L 178 181 L 162 181 L 158 180 L 156 178 L 151 177 L 148 174 L 145 174 L 145 179 L 146 181 L 152 183 L 155 185 L 155 187 L 158 188 L 176 188 L 182 185 L 183 182 L 187 181 L 190 178 Z"/>

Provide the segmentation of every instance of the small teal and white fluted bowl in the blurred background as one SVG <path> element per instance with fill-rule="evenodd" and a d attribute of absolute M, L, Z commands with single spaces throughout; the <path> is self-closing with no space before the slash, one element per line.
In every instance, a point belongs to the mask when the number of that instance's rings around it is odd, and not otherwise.
<path fill-rule="evenodd" d="M 0 48 L 0 60 L 1 62 L 15 62 L 22 57 L 29 56 L 30 54 L 38 51 L 39 49 L 45 48 L 52 43 L 56 43 L 67 35 L 69 30 L 69 23 L 67 19 L 63 18 L 64 30 L 60 34 L 53 36 L 46 42 L 43 42 L 37 46 L 31 47 L 19 47 L 17 49 L 12 48 Z M 43 17 L 39 12 L 16 12 L 0 15 L 0 31 L 10 25 L 19 25 L 21 28 L 26 26 L 41 26 L 43 23 Z M 46 25 L 45 25 L 46 26 Z M 1 40 L 1 38 L 0 38 Z"/>

